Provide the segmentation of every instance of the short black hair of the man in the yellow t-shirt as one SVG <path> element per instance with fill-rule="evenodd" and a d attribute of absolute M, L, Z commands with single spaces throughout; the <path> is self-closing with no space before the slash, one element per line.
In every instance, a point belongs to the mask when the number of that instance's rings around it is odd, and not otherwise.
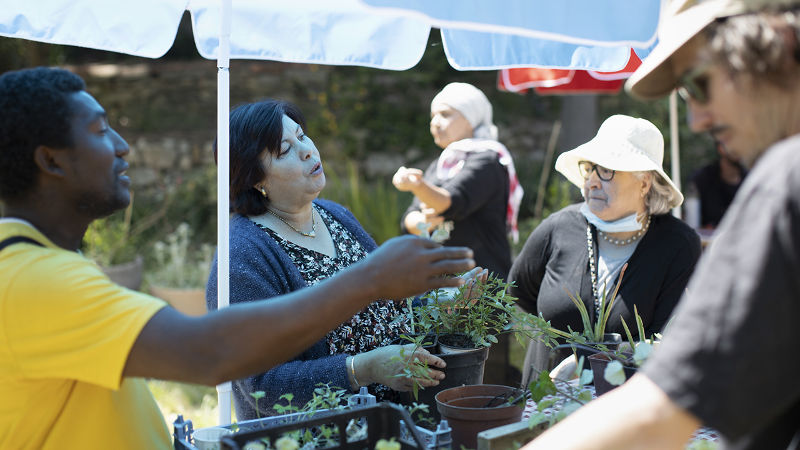
<path fill-rule="evenodd" d="M 72 146 L 69 96 L 83 80 L 64 69 L 37 67 L 0 76 L 0 198 L 24 198 L 38 179 L 36 147 Z"/>

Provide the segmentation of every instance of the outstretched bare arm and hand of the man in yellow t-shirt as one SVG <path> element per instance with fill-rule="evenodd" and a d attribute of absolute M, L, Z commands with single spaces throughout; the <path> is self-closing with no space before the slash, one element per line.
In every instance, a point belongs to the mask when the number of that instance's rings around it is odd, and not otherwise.
<path fill-rule="evenodd" d="M 469 270 L 471 258 L 469 249 L 401 236 L 332 278 L 267 302 L 202 317 L 163 308 L 136 339 L 123 376 L 214 385 L 263 372 L 375 299 L 460 285 L 461 279 L 441 275 Z"/>

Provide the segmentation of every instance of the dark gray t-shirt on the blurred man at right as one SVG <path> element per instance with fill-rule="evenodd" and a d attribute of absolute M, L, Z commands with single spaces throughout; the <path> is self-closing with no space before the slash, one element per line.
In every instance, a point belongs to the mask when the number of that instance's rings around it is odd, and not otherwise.
<path fill-rule="evenodd" d="M 758 161 L 644 373 L 726 448 L 800 447 L 800 137 Z"/>

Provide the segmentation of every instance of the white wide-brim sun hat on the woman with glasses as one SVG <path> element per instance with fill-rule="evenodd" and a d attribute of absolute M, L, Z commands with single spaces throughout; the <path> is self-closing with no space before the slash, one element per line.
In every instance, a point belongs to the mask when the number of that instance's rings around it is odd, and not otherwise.
<path fill-rule="evenodd" d="M 591 141 L 556 159 L 556 170 L 583 191 L 585 180 L 578 163 L 591 161 L 620 172 L 654 170 L 673 191 L 670 207 L 683 203 L 683 194 L 664 173 L 664 137 L 655 125 L 645 119 L 621 114 L 606 119 Z"/>

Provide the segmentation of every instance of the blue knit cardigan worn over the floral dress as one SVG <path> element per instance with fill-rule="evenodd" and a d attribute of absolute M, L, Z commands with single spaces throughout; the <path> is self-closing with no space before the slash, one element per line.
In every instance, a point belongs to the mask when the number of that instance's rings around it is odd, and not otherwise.
<path fill-rule="evenodd" d="M 329 200 L 314 203 L 344 225 L 368 252 L 377 248 L 353 214 Z M 230 220 L 230 302 L 231 304 L 268 299 L 307 287 L 297 266 L 280 244 L 248 218 L 234 215 Z M 209 311 L 217 309 L 217 259 L 211 265 L 206 285 Z M 302 320 L 298 317 L 297 320 Z M 280 343 L 275 343 L 280 345 Z M 251 392 L 264 391 L 258 401 L 261 417 L 276 415 L 272 406 L 285 393 L 294 394 L 292 404 L 304 405 L 311 399 L 317 383 L 348 389 L 345 359 L 347 354 L 330 355 L 326 339 L 319 340 L 293 360 L 259 375 L 233 382 L 236 417 L 239 421 L 257 418 L 256 401 Z"/>

